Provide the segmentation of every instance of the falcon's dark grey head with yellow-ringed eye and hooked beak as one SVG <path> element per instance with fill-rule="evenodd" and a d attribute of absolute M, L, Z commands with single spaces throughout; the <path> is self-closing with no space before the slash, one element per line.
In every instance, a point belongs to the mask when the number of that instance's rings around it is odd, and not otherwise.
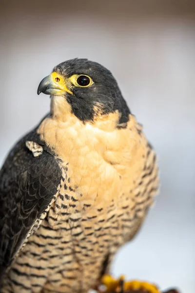
<path fill-rule="evenodd" d="M 73 59 L 55 66 L 39 84 L 40 93 L 51 95 L 52 115 L 61 120 L 74 114 L 83 123 L 118 113 L 118 123 L 129 120 L 129 108 L 117 81 L 102 65 L 87 59 Z"/>

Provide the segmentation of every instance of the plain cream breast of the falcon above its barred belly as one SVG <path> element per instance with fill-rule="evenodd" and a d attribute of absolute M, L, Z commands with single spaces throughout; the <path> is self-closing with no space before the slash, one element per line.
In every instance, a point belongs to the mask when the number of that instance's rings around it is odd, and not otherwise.
<path fill-rule="evenodd" d="M 117 129 L 113 121 L 114 116 L 83 124 L 70 115 L 64 122 L 46 118 L 38 130 L 41 139 L 62 159 L 62 165 L 68 163 L 71 185 L 83 198 L 96 199 L 97 205 L 129 193 L 144 164 L 145 139 L 138 136 L 134 117 L 125 129 Z"/>

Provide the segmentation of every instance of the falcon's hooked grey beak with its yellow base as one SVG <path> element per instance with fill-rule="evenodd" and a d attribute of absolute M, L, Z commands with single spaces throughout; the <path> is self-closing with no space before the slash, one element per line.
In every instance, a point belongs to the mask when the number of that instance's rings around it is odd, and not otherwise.
<path fill-rule="evenodd" d="M 70 94 L 73 94 L 72 91 L 70 91 L 67 86 L 66 82 L 64 80 L 64 77 L 62 77 L 57 72 L 53 72 L 52 74 L 46 76 L 43 78 L 43 80 L 40 82 L 37 90 L 37 94 L 40 93 L 46 94 L 46 95 L 61 95 L 64 92 L 68 92 Z"/>

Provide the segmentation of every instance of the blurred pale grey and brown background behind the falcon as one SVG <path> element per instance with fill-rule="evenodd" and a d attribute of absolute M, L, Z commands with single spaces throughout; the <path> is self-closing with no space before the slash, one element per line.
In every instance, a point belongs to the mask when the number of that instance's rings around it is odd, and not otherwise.
<path fill-rule="evenodd" d="M 113 72 L 159 158 L 156 206 L 113 273 L 194 293 L 195 1 L 0 0 L 0 163 L 49 110 L 40 80 L 75 57 Z"/>

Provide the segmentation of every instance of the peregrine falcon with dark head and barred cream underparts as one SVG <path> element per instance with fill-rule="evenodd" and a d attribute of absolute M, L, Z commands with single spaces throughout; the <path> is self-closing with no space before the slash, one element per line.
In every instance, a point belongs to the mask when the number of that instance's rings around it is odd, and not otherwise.
<path fill-rule="evenodd" d="M 50 113 L 0 170 L 0 292 L 86 293 L 154 202 L 156 154 L 102 65 L 60 63 L 40 93 Z"/>

